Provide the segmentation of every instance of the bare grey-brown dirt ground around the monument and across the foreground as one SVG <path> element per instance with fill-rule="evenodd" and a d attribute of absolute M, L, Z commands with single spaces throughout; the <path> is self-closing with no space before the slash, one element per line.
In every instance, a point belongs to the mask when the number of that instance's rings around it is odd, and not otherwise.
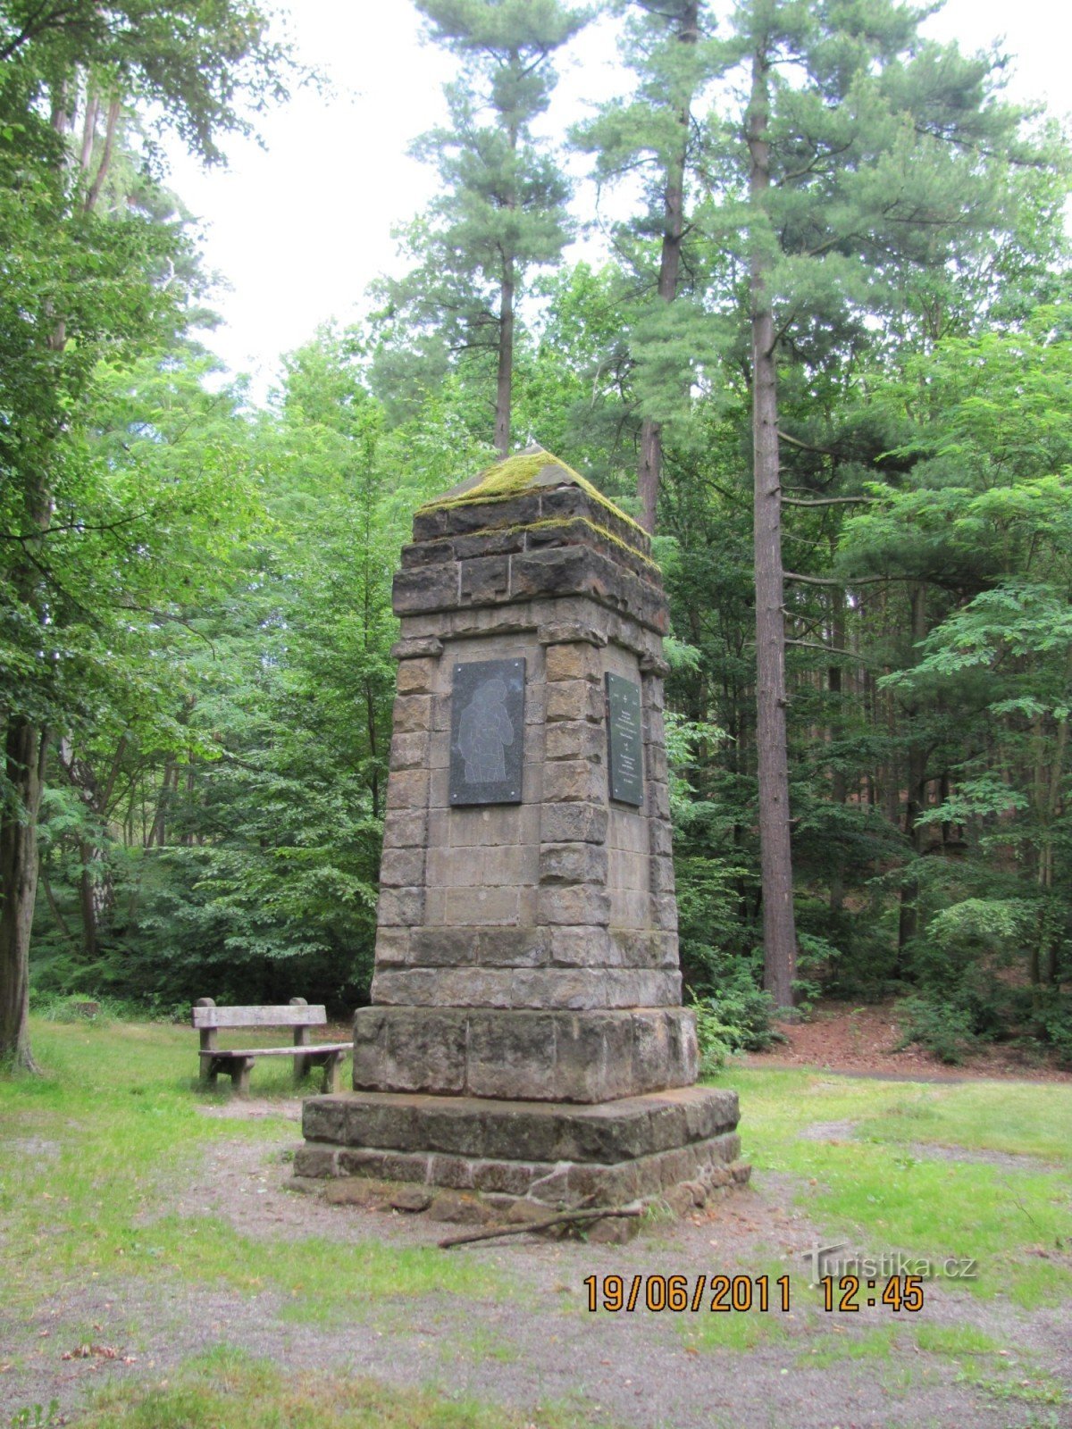
<path fill-rule="evenodd" d="M 863 1026 L 862 1036 L 880 1033 L 873 1023 Z M 793 1055 L 798 1050 L 792 1045 Z M 286 1152 L 299 1135 L 297 1102 L 282 1109 L 277 1102 L 233 1102 L 206 1115 L 279 1117 L 280 1110 L 293 1126 L 269 1143 L 214 1143 L 156 1213 L 222 1216 L 254 1242 L 317 1236 L 432 1246 L 452 1229 L 399 1212 L 327 1205 L 289 1189 Z M 800 1135 L 820 1139 L 839 1129 L 805 1125 Z M 442 1293 L 369 1303 L 354 1285 L 347 1316 L 327 1323 L 287 1318 L 277 1293 L 249 1296 L 177 1279 L 67 1289 L 30 1323 L 4 1323 L 0 1302 L 0 1358 L 13 1360 L 13 1372 L 0 1379 L 0 1423 L 19 1406 L 53 1398 L 70 1415 L 67 1422 L 77 1423 L 84 1393 L 101 1382 L 136 1376 L 159 1383 L 189 1355 L 226 1342 L 296 1369 L 322 1366 L 433 1388 L 447 1398 L 509 1403 L 525 1410 L 533 1429 L 542 1405 L 572 1406 L 586 1425 L 629 1429 L 1072 1425 L 1066 1403 L 1043 1399 L 1046 1385 L 1072 1392 L 1066 1306 L 1028 1313 L 1002 1299 L 976 1300 L 929 1283 L 925 1313 L 912 1323 L 888 1308 L 840 1320 L 822 1315 L 803 1253 L 823 1239 L 823 1229 L 795 1205 L 798 1189 L 788 1176 L 765 1173 L 713 1209 L 657 1223 L 625 1246 L 526 1235 L 442 1252 L 479 1259 L 509 1289 L 476 1299 Z M 789 1313 L 743 1316 L 756 1325 L 723 1346 L 705 1343 L 712 1320 L 706 1313 L 589 1313 L 583 1283 L 590 1275 L 616 1273 L 629 1282 L 657 1273 L 688 1276 L 692 1288 L 699 1275 L 763 1270 L 790 1276 Z M 892 1350 L 858 1355 L 869 1333 L 880 1336 L 895 1319 L 903 1335 Z M 1016 1373 L 1029 1378 L 1016 1380 L 1013 1398 L 995 1398 L 956 1358 L 920 1353 L 913 1332 L 923 1319 L 929 1326 L 976 1326 L 1005 1346 L 1005 1363 L 991 1359 L 988 1375 L 996 1379 L 1009 1365 L 1023 1366 Z M 87 1336 L 114 1358 L 63 1358 Z"/>

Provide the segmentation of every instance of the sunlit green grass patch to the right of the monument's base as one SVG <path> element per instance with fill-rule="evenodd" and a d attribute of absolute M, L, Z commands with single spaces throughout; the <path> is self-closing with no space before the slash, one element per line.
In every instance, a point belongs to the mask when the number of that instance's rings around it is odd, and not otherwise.
<path fill-rule="evenodd" d="M 886 1083 L 733 1067 L 745 1155 L 758 1177 L 788 1172 L 829 1240 L 935 1263 L 972 1258 L 971 1292 L 1025 1308 L 1072 1295 L 1072 1087 Z M 808 1140 L 815 1122 L 853 1120 L 856 1136 Z M 860 1135 L 862 1133 L 862 1135 Z M 906 1142 L 1045 1157 L 1023 1169 L 915 1156 Z M 952 1282 L 949 1282 L 952 1283 Z"/>

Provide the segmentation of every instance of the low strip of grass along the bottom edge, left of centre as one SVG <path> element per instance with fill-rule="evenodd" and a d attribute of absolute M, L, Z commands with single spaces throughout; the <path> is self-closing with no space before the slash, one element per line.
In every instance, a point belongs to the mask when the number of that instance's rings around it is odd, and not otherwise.
<path fill-rule="evenodd" d="M 31 1420 L 30 1420 L 31 1422 Z M 582 1429 L 569 1410 L 516 1410 L 329 1372 L 280 1372 L 227 1346 L 150 1388 L 99 1395 L 81 1429 Z"/>

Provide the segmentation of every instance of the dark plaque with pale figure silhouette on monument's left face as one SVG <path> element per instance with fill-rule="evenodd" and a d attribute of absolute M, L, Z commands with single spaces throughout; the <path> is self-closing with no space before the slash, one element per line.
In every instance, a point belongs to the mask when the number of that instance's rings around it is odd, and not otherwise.
<path fill-rule="evenodd" d="M 520 803 L 525 660 L 455 666 L 450 692 L 450 805 Z"/>

